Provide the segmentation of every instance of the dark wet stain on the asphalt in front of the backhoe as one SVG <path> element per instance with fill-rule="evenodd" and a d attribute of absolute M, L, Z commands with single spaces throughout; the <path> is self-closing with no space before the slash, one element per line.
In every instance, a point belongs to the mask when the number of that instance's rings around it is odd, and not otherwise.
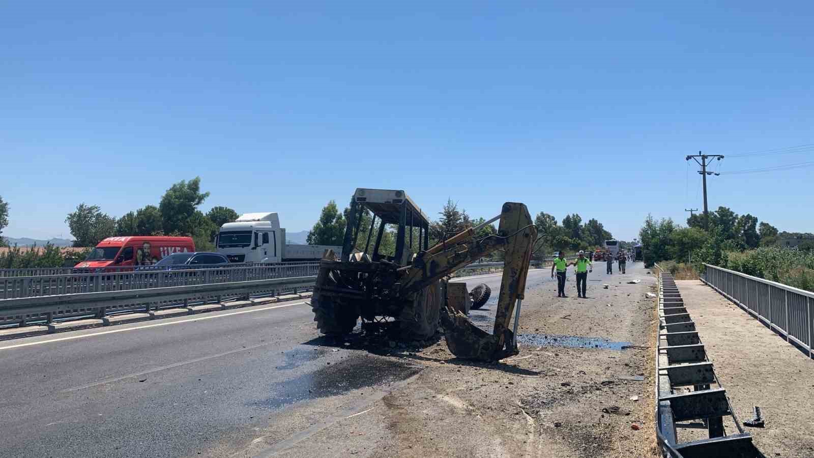
<path fill-rule="evenodd" d="M 326 398 L 368 386 L 405 380 L 421 369 L 414 364 L 372 356 L 346 359 L 300 377 L 274 383 L 269 386 L 272 395 L 252 405 L 276 409 L 298 401 Z"/>

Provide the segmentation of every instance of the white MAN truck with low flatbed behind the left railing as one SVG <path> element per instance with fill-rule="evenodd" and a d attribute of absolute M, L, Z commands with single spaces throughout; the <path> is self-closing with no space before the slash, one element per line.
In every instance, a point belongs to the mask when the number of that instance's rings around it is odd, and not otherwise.
<path fill-rule="evenodd" d="M 276 213 L 247 213 L 221 226 L 217 252 L 230 262 L 317 261 L 326 249 L 341 256 L 341 246 L 287 244 L 286 230 Z"/>

